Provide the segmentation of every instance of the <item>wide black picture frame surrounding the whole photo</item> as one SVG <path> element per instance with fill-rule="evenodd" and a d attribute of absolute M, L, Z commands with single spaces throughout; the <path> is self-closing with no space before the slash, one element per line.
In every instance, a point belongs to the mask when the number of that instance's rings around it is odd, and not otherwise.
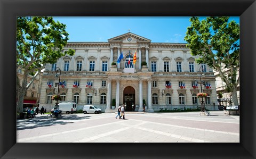
<path fill-rule="evenodd" d="M 255 158 L 255 1 L 0 0 L 1 158 Z M 240 16 L 240 143 L 16 143 L 16 16 Z M 146 24 L 148 25 L 148 24 Z"/>

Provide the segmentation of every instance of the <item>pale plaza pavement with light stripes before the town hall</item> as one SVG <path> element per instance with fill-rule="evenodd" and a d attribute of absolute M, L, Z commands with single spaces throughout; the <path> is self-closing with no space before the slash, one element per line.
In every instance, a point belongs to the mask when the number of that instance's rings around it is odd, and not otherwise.
<path fill-rule="evenodd" d="M 17 120 L 17 143 L 239 143 L 239 116 L 199 112 L 63 114 Z"/>

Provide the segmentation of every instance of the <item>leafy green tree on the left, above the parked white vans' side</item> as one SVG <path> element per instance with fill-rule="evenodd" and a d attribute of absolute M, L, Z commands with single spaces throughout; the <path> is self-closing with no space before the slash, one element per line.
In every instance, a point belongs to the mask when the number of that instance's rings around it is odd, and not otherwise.
<path fill-rule="evenodd" d="M 23 98 L 28 87 L 33 83 L 46 63 L 55 63 L 61 56 L 74 55 L 74 50 L 63 51 L 67 44 L 66 25 L 55 22 L 47 16 L 17 17 L 17 68 L 23 70 L 20 84 L 17 76 L 17 112 L 23 111 Z M 33 76 L 27 83 L 27 78 Z"/>

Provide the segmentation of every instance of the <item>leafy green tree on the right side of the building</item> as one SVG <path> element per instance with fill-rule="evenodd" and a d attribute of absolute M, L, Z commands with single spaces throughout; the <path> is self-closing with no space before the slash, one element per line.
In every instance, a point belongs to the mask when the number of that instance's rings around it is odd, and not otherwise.
<path fill-rule="evenodd" d="M 202 21 L 193 16 L 189 21 L 191 26 L 187 28 L 185 40 L 191 54 L 199 56 L 198 64 L 206 63 L 219 72 L 232 94 L 234 105 L 238 105 L 239 24 L 229 21 L 228 16 L 211 16 Z"/>

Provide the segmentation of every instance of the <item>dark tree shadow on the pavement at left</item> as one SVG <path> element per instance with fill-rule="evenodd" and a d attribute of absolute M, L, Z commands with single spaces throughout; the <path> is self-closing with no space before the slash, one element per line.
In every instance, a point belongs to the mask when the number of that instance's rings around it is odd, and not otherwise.
<path fill-rule="evenodd" d="M 17 130 L 33 129 L 37 127 L 49 127 L 54 124 L 69 124 L 74 123 L 73 120 L 83 120 L 91 118 L 91 116 L 78 116 L 76 114 L 64 114 L 62 116 L 62 119 L 47 119 L 46 116 L 47 115 L 37 115 L 36 118 L 17 119 Z"/>

